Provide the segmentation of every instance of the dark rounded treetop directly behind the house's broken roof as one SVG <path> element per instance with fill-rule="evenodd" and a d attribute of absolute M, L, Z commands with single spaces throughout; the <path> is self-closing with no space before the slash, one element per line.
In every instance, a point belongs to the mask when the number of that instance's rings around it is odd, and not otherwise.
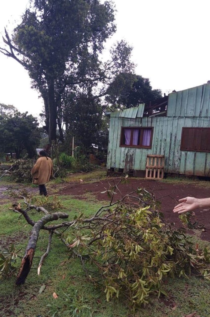
<path fill-rule="evenodd" d="M 106 101 L 112 107 L 136 107 L 161 98 L 160 89 L 152 89 L 149 78 L 132 73 L 119 74 L 108 88 Z"/>

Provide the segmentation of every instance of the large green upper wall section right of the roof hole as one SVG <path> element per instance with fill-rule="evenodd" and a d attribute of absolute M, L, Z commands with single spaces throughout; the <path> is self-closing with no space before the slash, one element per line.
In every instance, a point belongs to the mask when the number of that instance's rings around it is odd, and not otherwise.
<path fill-rule="evenodd" d="M 169 94 L 167 117 L 210 117 L 210 84 Z"/>

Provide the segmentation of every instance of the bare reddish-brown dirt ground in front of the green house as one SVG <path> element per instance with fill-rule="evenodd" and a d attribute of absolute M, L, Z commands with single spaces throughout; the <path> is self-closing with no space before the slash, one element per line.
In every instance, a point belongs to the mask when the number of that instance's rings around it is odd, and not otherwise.
<path fill-rule="evenodd" d="M 115 182 L 117 182 L 117 178 L 115 178 Z M 180 198 L 187 196 L 197 198 L 210 197 L 209 188 L 205 189 L 195 187 L 193 186 L 193 184 L 169 184 L 152 180 L 136 180 L 134 178 L 129 179 L 128 185 L 119 184 L 119 190 L 121 191 L 123 196 L 130 193 L 132 189 L 135 190 L 138 187 L 144 187 L 147 191 L 153 191 L 155 193 L 156 198 L 161 202 L 161 210 L 165 215 L 165 219 L 167 221 L 174 222 L 176 226 L 181 226 L 181 223 L 178 215 L 173 213 L 173 207 L 178 203 L 178 200 Z M 105 191 L 105 188 L 109 188 L 108 180 L 103 180 L 92 184 L 69 183 L 64 187 L 62 191 L 59 192 L 59 194 L 72 195 L 76 196 L 79 199 L 85 199 L 84 195 L 87 193 L 91 193 L 98 200 L 107 200 L 107 194 L 101 194 L 102 191 Z M 115 195 L 115 200 L 118 198 L 120 198 L 120 194 Z M 206 231 L 202 232 L 201 238 L 203 240 L 210 241 L 210 209 L 195 210 L 194 219 L 195 221 L 197 220 L 199 223 L 203 223 L 205 226 Z"/>

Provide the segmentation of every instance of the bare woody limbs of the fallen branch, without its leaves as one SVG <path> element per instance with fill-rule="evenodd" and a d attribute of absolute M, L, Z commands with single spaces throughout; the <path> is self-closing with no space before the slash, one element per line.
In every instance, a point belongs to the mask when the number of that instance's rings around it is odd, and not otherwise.
<path fill-rule="evenodd" d="M 118 189 L 118 187 L 117 187 L 118 184 L 114 184 L 114 191 L 116 188 Z M 112 188 L 113 193 L 114 193 L 114 191 Z M 135 191 L 132 191 L 130 193 L 130 195 L 134 192 Z M 112 196 L 114 196 L 114 194 Z M 121 202 L 124 202 L 124 200 L 127 199 L 127 197 L 129 197 L 129 194 L 122 197 Z M 80 217 L 79 217 L 78 219 L 75 219 L 71 222 L 63 222 L 63 223 L 56 224 L 56 225 L 45 226 L 46 223 L 54 221 L 54 220 L 58 220 L 59 218 L 63 218 L 63 219 L 68 218 L 68 215 L 65 213 L 62 213 L 62 212 L 56 212 L 56 213 L 50 214 L 48 212 L 48 210 L 44 209 L 44 207 L 38 207 L 36 205 L 31 205 L 30 204 L 31 201 L 28 202 L 24 196 L 21 196 L 21 198 L 24 199 L 24 203 L 27 205 L 27 209 L 23 210 L 20 208 L 20 204 L 17 204 L 15 206 L 15 208 L 12 210 L 21 213 L 24 216 L 24 218 L 26 219 L 27 223 L 29 223 L 31 226 L 33 226 L 33 229 L 31 230 L 29 242 L 28 242 L 28 245 L 27 245 L 26 250 L 25 250 L 25 255 L 22 259 L 19 273 L 17 275 L 16 285 L 24 284 L 24 282 L 25 282 L 25 280 L 30 272 L 30 268 L 32 266 L 32 261 L 33 261 L 33 257 L 34 257 L 34 253 L 35 253 L 35 249 L 36 249 L 36 245 L 37 245 L 39 232 L 41 229 L 50 231 L 50 236 L 49 236 L 47 250 L 39 262 L 39 266 L 38 266 L 38 270 L 37 270 L 38 275 L 40 274 L 40 269 L 41 269 L 42 263 L 44 261 L 44 258 L 48 255 L 48 253 L 50 251 L 51 239 L 52 239 L 53 233 L 60 236 L 60 240 L 65 244 L 65 246 L 68 249 L 71 249 L 71 245 L 66 242 L 66 240 L 63 237 L 63 234 L 58 232 L 56 229 L 64 228 L 64 227 L 70 228 L 71 226 L 74 226 L 74 225 L 76 225 L 78 227 L 78 230 L 80 230 L 80 229 L 91 230 L 91 226 L 93 226 L 93 227 L 95 226 L 96 228 L 98 226 L 102 227 L 102 230 L 100 230 L 101 232 L 98 232 L 98 230 L 97 230 L 96 235 L 94 235 L 92 237 L 93 238 L 91 240 L 91 244 L 92 244 L 93 242 L 98 240 L 99 236 L 102 237 L 103 231 L 105 230 L 105 227 L 108 228 L 109 226 L 112 226 L 113 223 L 118 222 L 118 220 L 115 218 L 116 217 L 116 210 L 118 210 L 118 208 L 120 208 L 120 206 L 121 206 L 121 204 L 119 204 L 119 201 L 112 203 L 112 200 L 113 200 L 113 197 L 112 197 L 110 204 L 102 206 L 101 208 L 99 208 L 98 211 L 95 213 L 95 215 L 89 219 L 80 219 Z M 138 197 L 136 197 L 136 199 L 138 199 Z M 110 212 L 109 209 L 112 208 L 114 205 L 117 205 L 117 206 L 115 208 L 115 212 L 113 213 L 113 211 Z M 27 213 L 31 209 L 35 209 L 35 210 L 37 210 L 37 212 L 39 212 L 39 211 L 44 212 L 44 214 L 45 214 L 44 217 L 42 217 L 37 222 L 34 222 L 32 219 L 30 219 L 30 217 Z M 107 211 L 109 212 L 108 214 L 107 214 Z M 103 213 L 103 216 L 101 217 L 102 213 Z M 89 244 L 89 246 L 90 246 L 90 244 Z"/>

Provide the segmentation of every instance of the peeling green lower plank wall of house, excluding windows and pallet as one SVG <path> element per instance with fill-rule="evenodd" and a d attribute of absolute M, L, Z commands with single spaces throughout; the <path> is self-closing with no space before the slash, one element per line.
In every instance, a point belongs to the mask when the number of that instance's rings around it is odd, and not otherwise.
<path fill-rule="evenodd" d="M 165 172 L 210 176 L 210 153 L 180 151 L 182 127 L 210 127 L 207 117 L 111 117 L 107 168 L 145 170 L 147 154 L 165 155 Z M 122 126 L 153 126 L 152 149 L 119 147 Z"/>

